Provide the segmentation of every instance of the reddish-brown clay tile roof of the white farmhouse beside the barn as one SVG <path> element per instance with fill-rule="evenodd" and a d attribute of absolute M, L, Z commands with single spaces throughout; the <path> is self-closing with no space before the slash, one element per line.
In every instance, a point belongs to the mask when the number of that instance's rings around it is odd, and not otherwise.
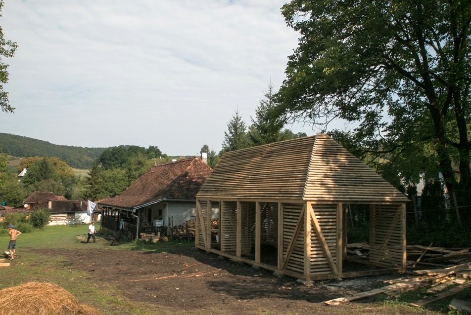
<path fill-rule="evenodd" d="M 195 200 L 212 169 L 201 158 L 152 166 L 120 195 L 99 200 L 104 206 L 135 208 L 160 199 Z"/>

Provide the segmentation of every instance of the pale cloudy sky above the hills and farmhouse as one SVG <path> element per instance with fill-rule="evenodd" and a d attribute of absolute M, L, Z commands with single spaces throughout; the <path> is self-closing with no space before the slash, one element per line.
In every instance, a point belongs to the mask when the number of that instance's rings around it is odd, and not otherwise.
<path fill-rule="evenodd" d="M 285 78 L 298 34 L 283 0 L 5 0 L 18 49 L 0 132 L 59 145 L 218 152 L 238 110 L 249 123 Z M 287 125 L 315 134 L 311 126 Z"/>

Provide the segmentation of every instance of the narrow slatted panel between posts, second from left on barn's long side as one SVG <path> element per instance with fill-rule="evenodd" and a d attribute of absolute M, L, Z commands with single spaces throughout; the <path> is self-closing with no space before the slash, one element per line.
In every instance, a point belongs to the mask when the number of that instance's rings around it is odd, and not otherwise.
<path fill-rule="evenodd" d="M 221 251 L 235 254 L 237 247 L 237 202 L 221 202 Z"/>

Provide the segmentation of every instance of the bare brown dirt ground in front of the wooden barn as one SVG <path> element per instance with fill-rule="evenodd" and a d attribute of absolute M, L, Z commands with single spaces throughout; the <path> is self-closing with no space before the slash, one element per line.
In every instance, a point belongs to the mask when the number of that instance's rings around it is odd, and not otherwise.
<path fill-rule="evenodd" d="M 332 307 L 322 302 L 381 287 L 384 280 L 400 276 L 316 281 L 306 286 L 291 277 L 279 278 L 263 269 L 220 260 L 217 255 L 192 246 L 169 253 L 96 250 L 94 244 L 86 246 L 82 250 L 42 249 L 41 254 L 64 257 L 66 268 L 87 272 L 95 283 L 115 283 L 130 300 L 157 305 L 172 313 L 218 310 L 220 314 L 312 314 L 316 309 L 317 313 L 345 314 L 351 313 L 353 303 Z M 355 313 L 363 312 L 357 309 Z"/>

